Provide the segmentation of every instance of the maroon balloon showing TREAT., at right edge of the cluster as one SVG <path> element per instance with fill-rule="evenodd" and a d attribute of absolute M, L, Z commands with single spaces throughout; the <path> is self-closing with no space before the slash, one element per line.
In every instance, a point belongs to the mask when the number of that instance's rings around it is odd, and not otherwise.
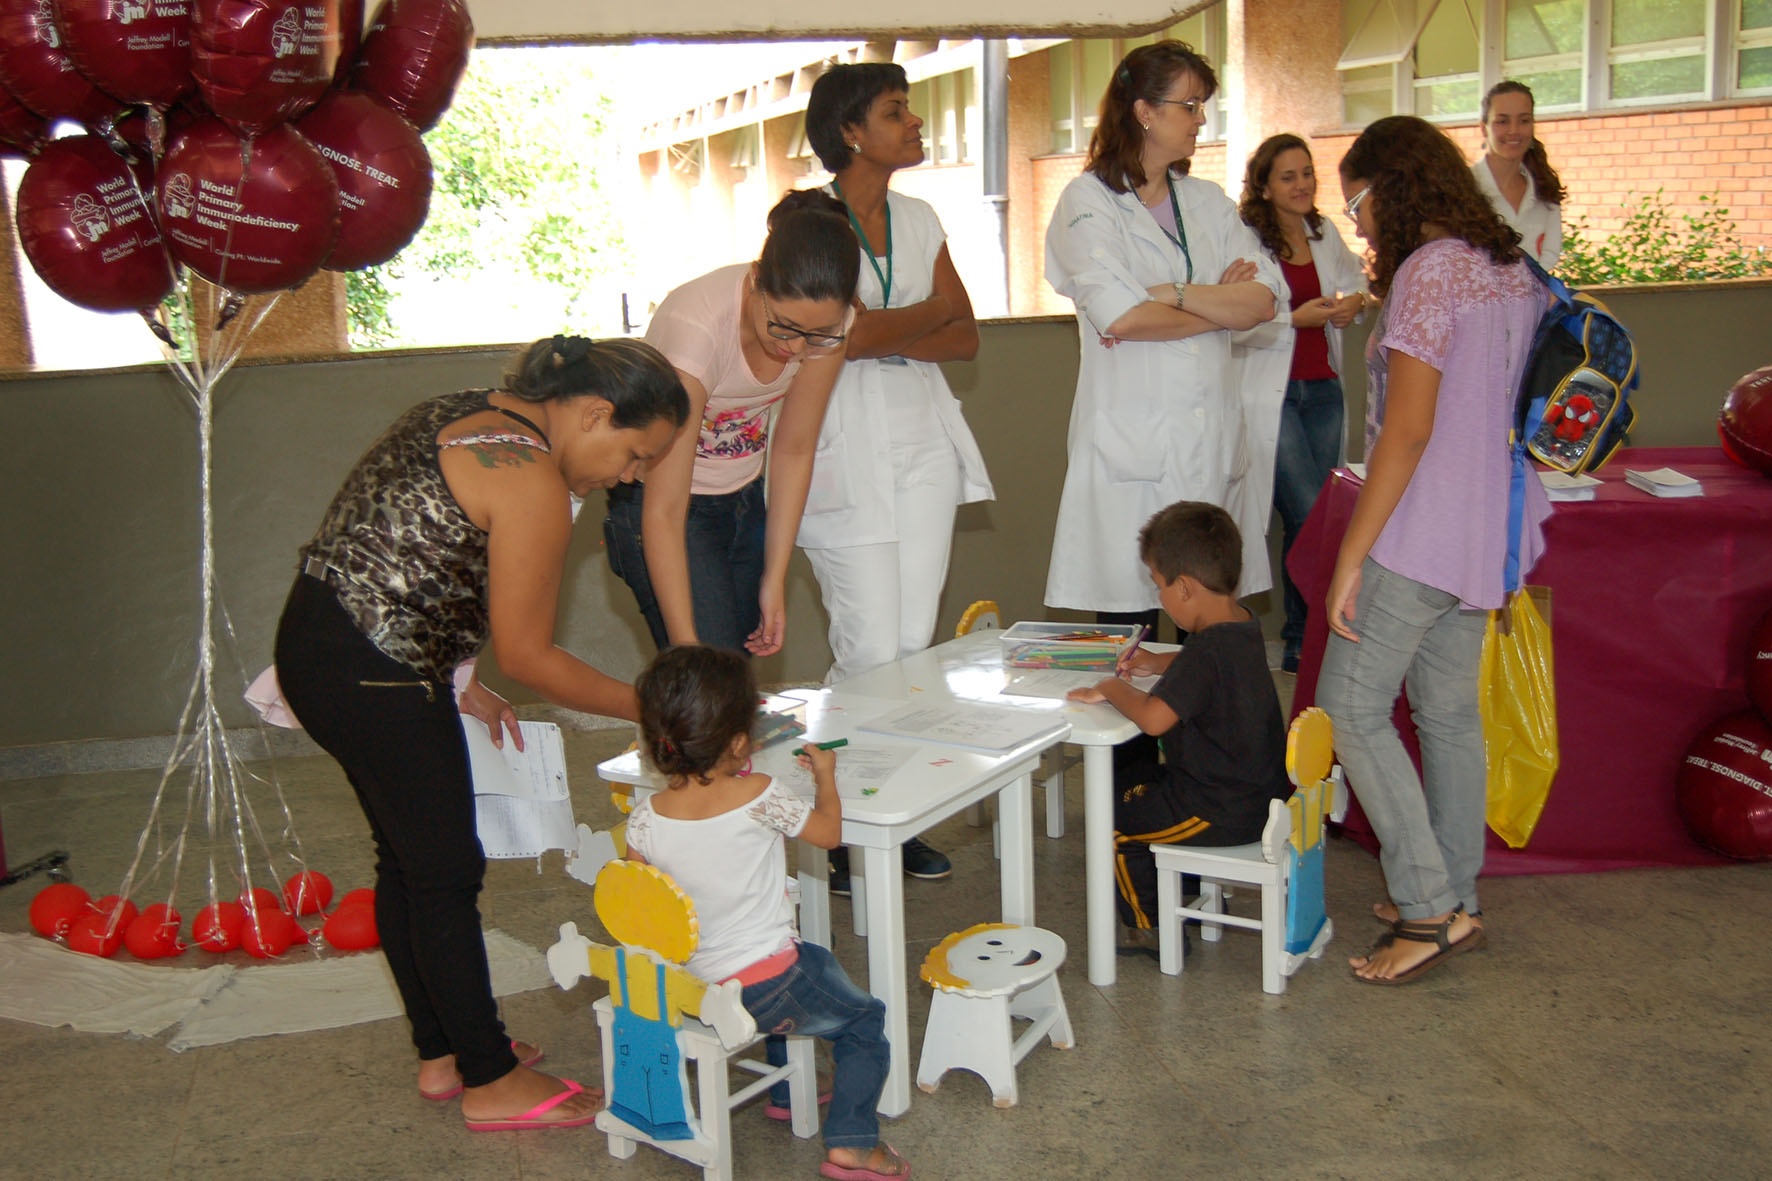
<path fill-rule="evenodd" d="M 335 90 L 296 124 L 338 177 L 338 241 L 323 264 L 386 262 L 431 211 L 431 153 L 418 128 L 369 94 Z"/>

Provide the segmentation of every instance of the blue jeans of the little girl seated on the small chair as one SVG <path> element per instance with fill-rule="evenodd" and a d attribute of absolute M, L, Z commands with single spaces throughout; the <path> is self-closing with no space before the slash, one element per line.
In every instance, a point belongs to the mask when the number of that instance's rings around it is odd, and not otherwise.
<path fill-rule="evenodd" d="M 787 1062 L 781 1037 L 789 1034 L 831 1043 L 835 1071 L 831 1110 L 824 1115 L 826 1147 L 870 1149 L 879 1144 L 881 1121 L 874 1108 L 891 1066 L 886 1002 L 856 988 L 829 949 L 801 943 L 792 968 L 744 988 L 744 1007 L 758 1030 L 773 1034 L 766 1050 L 776 1066 Z M 771 1099 L 787 1107 L 787 1083 L 776 1087 Z"/>

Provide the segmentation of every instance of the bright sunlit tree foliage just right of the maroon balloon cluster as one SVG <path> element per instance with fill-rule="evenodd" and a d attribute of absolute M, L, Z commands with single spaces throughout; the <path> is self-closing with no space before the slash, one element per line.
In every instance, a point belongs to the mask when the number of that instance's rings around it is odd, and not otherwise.
<path fill-rule="evenodd" d="M 592 282 L 627 266 L 604 177 L 624 167 L 595 50 L 477 50 L 443 121 L 425 135 L 434 188 L 424 229 L 392 262 L 349 277 L 353 348 L 408 340 L 400 293 L 471 278 L 487 301 L 507 287 L 556 296 L 535 332 L 579 326 Z M 563 323 L 549 325 L 560 314 Z"/>

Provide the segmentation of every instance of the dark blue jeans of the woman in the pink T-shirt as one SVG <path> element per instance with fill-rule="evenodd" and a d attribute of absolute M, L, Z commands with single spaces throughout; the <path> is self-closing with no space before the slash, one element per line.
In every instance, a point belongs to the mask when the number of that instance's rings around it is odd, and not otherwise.
<path fill-rule="evenodd" d="M 640 541 L 640 514 L 645 484 L 617 484 L 610 489 L 610 512 L 602 518 L 602 539 L 613 569 L 634 592 L 652 642 L 670 647 L 664 614 L 652 592 L 647 553 Z M 757 596 L 764 585 L 764 481 L 718 497 L 689 497 L 684 518 L 684 548 L 689 559 L 689 601 L 695 610 L 695 635 L 702 644 L 744 651 L 744 640 L 762 621 Z"/>

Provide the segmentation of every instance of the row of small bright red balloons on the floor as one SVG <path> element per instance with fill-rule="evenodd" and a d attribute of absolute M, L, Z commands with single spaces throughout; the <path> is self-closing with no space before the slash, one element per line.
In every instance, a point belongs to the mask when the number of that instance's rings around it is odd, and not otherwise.
<path fill-rule="evenodd" d="M 136 959 L 183 956 L 191 945 L 223 954 L 245 950 L 255 959 L 275 959 L 291 947 L 308 943 L 312 931 L 298 919 L 326 915 L 333 887 L 326 874 L 301 871 L 284 883 L 278 897 L 252 887 L 239 901 L 209 903 L 191 919 L 191 942 L 179 938 L 183 917 L 168 903 L 136 911 L 117 894 L 92 899 L 71 881 L 58 881 L 30 901 L 30 926 L 46 940 L 67 943 L 76 952 L 110 959 L 126 949 Z M 317 929 L 338 950 L 377 947 L 376 892 L 351 890 Z"/>

